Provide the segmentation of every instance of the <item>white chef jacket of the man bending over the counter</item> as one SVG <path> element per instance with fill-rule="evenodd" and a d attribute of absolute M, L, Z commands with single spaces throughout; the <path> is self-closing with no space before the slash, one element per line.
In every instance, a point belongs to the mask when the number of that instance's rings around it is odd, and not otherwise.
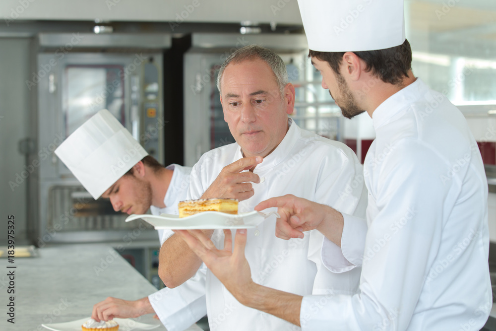
<path fill-rule="evenodd" d="M 153 215 L 179 214 L 179 201 L 186 200 L 189 186 L 190 167 L 171 164 L 166 167 L 173 170 L 171 183 L 164 197 L 165 208 L 151 206 Z M 160 245 L 174 234 L 172 230 L 158 230 Z M 175 288 L 163 288 L 148 296 L 153 310 L 168 331 L 182 331 L 189 328 L 207 313 L 205 302 L 205 265 L 182 285 Z"/>

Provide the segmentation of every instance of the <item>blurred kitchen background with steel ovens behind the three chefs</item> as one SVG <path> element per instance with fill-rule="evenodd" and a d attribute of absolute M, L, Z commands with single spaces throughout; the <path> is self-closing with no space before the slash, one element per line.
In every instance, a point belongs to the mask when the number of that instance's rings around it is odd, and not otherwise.
<path fill-rule="evenodd" d="M 496 2 L 407 0 L 405 8 L 415 75 L 460 106 L 496 184 Z M 137 223 L 89 198 L 53 150 L 107 108 L 164 164 L 193 165 L 234 141 L 216 70 L 248 44 L 286 62 L 300 126 L 347 143 L 362 160 L 374 138 L 366 114 L 345 121 L 321 89 L 296 0 L 2 0 L 0 14 L 1 224 L 15 215 L 18 245 L 124 245 L 120 253 L 163 286 L 156 232 L 126 237 Z M 496 242 L 496 193 L 489 207 Z"/>

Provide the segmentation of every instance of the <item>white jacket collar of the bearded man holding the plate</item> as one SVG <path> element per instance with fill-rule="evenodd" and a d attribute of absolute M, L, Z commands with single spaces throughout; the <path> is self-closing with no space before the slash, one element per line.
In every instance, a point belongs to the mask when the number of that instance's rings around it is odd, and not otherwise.
<path fill-rule="evenodd" d="M 372 113 L 374 130 L 379 129 L 389 122 L 394 114 L 418 100 L 419 95 L 424 95 L 428 89 L 429 87 L 420 78 L 417 78 L 413 83 L 384 100 Z"/>

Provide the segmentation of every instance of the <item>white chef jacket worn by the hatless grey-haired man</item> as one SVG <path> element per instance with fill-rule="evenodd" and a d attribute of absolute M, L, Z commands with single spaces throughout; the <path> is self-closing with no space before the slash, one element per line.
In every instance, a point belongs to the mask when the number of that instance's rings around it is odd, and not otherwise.
<path fill-rule="evenodd" d="M 254 196 L 240 201 L 239 212 L 253 210 L 259 202 L 285 194 L 333 205 L 339 210 L 365 215 L 367 193 L 362 165 L 346 145 L 300 129 L 292 120 L 281 143 L 254 170 L 263 183 L 253 184 Z M 193 166 L 188 199 L 198 199 L 223 167 L 242 158 L 237 143 L 205 153 Z M 248 229 L 245 254 L 253 281 L 297 293 L 355 293 L 360 267 L 332 273 L 321 267 L 323 236 L 307 232 L 304 239 L 275 237 L 276 217 Z M 233 231 L 234 232 L 234 231 Z M 364 240 L 364 238 L 362 238 Z M 212 241 L 223 247 L 224 234 L 216 230 Z M 348 264 L 340 250 L 341 261 Z M 207 269 L 206 301 L 210 330 L 300 330 L 295 325 L 240 304 Z"/>

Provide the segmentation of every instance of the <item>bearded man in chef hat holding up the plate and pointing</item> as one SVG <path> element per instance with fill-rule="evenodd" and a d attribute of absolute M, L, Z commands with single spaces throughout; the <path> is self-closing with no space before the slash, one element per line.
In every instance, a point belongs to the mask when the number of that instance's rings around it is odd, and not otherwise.
<path fill-rule="evenodd" d="M 484 166 L 460 111 L 412 73 L 402 1 L 299 5 L 322 87 L 345 116 L 372 117 L 368 229 L 363 219 L 292 196 L 255 209 L 279 207 L 284 238 L 319 229 L 322 263 L 333 272 L 343 265 L 333 253 L 340 245 L 342 256 L 362 265 L 360 291 L 282 293 L 249 277 L 246 235 L 237 235 L 233 253 L 210 249 L 201 234 L 201 242 L 185 239 L 235 297 L 303 330 L 480 330 L 492 307 Z M 353 22 L 342 24 L 348 17 Z"/>

